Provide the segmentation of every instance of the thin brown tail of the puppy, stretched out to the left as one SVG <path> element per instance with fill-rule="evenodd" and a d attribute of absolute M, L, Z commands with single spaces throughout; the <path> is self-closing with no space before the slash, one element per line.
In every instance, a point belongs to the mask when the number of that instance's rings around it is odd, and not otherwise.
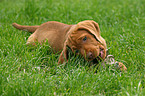
<path fill-rule="evenodd" d="M 28 32 L 35 32 L 35 30 L 39 27 L 39 26 L 23 26 L 23 25 L 19 25 L 17 23 L 13 23 L 12 24 L 15 28 L 20 29 L 20 30 L 26 30 Z"/>

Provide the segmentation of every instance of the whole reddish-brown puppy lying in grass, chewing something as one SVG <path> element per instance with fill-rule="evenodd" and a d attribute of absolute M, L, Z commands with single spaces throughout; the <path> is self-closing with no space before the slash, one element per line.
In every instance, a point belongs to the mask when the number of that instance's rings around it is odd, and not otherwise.
<path fill-rule="evenodd" d="M 55 52 L 61 51 L 59 63 L 68 59 L 69 47 L 72 52 L 82 55 L 86 60 L 103 60 L 106 57 L 106 42 L 100 35 L 98 23 L 91 20 L 67 25 L 56 21 L 49 21 L 40 26 L 22 26 L 13 23 L 20 30 L 27 30 L 33 34 L 27 44 L 35 45 L 48 41 Z"/>

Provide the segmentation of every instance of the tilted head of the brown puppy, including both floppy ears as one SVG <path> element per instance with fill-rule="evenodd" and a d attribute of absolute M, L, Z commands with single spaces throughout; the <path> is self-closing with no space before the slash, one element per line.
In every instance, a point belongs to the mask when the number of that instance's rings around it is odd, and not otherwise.
<path fill-rule="evenodd" d="M 87 61 L 100 61 L 106 57 L 106 42 L 100 35 L 95 21 L 82 21 L 69 30 L 59 63 L 68 59 L 69 47 L 73 53 L 83 56 Z"/>

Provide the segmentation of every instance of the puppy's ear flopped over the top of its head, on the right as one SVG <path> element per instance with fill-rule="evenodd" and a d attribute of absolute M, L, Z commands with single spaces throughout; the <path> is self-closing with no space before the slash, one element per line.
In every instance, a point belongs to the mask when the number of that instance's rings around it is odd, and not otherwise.
<path fill-rule="evenodd" d="M 93 20 L 86 20 L 86 21 L 82 21 L 79 22 L 77 24 L 78 29 L 85 29 L 88 30 L 88 32 L 90 32 L 90 34 L 94 35 L 94 37 L 105 47 L 106 46 L 106 42 L 105 39 L 103 37 L 101 37 L 100 35 L 100 28 L 98 23 L 96 23 Z"/>

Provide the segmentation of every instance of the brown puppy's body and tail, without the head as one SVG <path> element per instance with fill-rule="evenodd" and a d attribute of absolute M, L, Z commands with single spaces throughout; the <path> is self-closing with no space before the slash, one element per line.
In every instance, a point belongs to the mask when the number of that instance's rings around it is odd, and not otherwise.
<path fill-rule="evenodd" d="M 17 26 L 16 28 L 18 29 L 27 30 L 30 32 L 34 31 L 34 33 L 27 40 L 28 45 L 36 45 L 35 43 L 37 41 L 42 44 L 48 40 L 50 46 L 55 50 L 54 52 L 58 52 L 63 49 L 65 36 L 72 25 L 66 25 L 56 21 L 49 21 L 40 26 L 21 26 L 16 23 L 13 23 L 13 26 Z M 35 30 L 30 28 L 28 29 L 28 27 L 35 27 Z"/>

